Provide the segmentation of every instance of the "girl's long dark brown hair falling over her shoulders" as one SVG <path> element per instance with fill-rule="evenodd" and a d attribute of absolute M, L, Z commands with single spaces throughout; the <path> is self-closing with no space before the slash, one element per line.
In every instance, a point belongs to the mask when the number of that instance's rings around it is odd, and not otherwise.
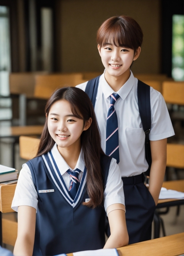
<path fill-rule="evenodd" d="M 36 157 L 47 153 L 55 144 L 55 141 L 48 132 L 47 117 L 52 104 L 58 100 L 67 100 L 70 103 L 73 115 L 83 119 L 84 125 L 90 117 L 92 118 L 91 126 L 81 134 L 81 144 L 83 159 L 87 169 L 87 192 L 90 196 L 90 201 L 87 203 L 83 202 L 83 205 L 94 209 L 98 205 L 101 205 L 103 201 L 100 156 L 104 155 L 104 152 L 101 148 L 101 138 L 93 105 L 90 98 L 83 90 L 76 87 L 64 87 L 56 90 L 47 101 L 45 107 L 45 114 L 47 115 Z"/>

